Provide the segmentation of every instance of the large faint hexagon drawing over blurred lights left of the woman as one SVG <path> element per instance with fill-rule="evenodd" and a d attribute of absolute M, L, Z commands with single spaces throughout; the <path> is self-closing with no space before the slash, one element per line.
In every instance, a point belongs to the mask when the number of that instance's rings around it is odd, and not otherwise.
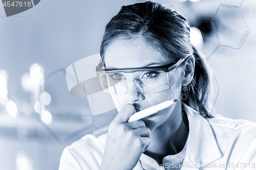
<path fill-rule="evenodd" d="M 37 110 L 40 110 L 40 114 L 36 114 L 37 120 L 56 141 L 67 144 L 92 133 L 95 128 L 92 125 L 92 113 L 87 98 L 69 94 L 65 69 L 60 68 L 51 72 L 41 82 L 38 87 Z M 44 105 L 44 92 L 51 95 L 50 104 Z M 47 121 L 48 117 L 44 118 L 45 113 L 50 115 L 51 123 Z"/>

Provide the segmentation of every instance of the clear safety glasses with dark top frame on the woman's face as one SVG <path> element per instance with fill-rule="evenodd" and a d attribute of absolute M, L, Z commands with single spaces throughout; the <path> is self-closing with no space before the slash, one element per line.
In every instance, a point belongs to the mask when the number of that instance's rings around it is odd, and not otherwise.
<path fill-rule="evenodd" d="M 125 95 L 128 88 L 135 87 L 143 94 L 151 94 L 172 87 L 176 80 L 176 68 L 184 60 L 162 66 L 124 69 L 105 69 L 100 62 L 96 67 L 96 75 L 99 76 L 100 85 L 105 92 Z M 134 86 L 130 87 L 131 83 Z"/>

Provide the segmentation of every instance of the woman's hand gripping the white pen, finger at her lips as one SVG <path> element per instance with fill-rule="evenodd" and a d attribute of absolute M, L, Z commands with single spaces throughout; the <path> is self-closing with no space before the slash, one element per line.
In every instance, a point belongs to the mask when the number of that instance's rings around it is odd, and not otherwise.
<path fill-rule="evenodd" d="M 150 129 L 142 120 L 127 122 L 136 110 L 125 105 L 109 127 L 100 169 L 133 169 L 150 145 Z"/>

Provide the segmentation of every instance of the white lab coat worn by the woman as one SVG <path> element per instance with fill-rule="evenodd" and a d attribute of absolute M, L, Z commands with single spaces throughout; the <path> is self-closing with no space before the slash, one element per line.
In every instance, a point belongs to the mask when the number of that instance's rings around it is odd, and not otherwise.
<path fill-rule="evenodd" d="M 221 116 L 204 118 L 185 104 L 184 109 L 189 122 L 189 134 L 182 170 L 201 169 L 202 166 L 203 169 L 256 169 L 255 123 Z M 88 134 L 75 141 L 64 149 L 59 170 L 99 169 L 105 140 L 106 134 L 98 138 Z M 153 168 L 152 164 L 158 163 L 142 154 L 133 170 L 164 169 Z"/>

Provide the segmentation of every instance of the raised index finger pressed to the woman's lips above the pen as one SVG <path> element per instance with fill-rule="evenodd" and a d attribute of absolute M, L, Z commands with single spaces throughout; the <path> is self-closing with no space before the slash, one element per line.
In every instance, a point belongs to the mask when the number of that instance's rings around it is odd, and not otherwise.
<path fill-rule="evenodd" d="M 115 121 L 122 123 L 127 122 L 127 119 L 131 117 L 133 113 L 136 113 L 134 106 L 132 104 L 126 104 L 115 117 Z"/>

